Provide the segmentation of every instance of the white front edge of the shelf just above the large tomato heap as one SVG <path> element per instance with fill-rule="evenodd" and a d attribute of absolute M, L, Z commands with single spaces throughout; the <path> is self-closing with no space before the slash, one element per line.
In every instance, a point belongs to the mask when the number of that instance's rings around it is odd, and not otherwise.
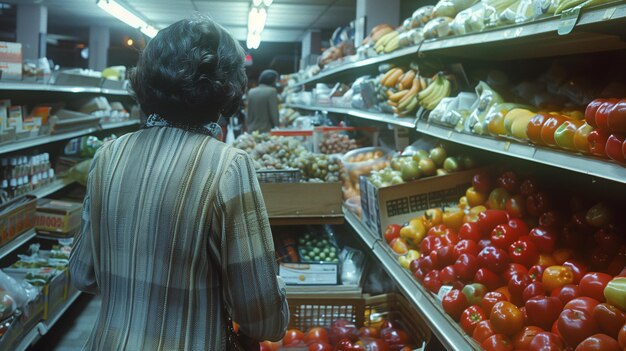
<path fill-rule="evenodd" d="M 619 183 L 626 183 L 626 167 L 600 158 L 576 155 L 556 149 L 499 140 L 487 136 L 459 133 L 450 128 L 423 121 L 418 121 L 417 131 L 486 151 L 497 152 L 499 154 L 584 173 L 598 178 L 609 179 Z"/>

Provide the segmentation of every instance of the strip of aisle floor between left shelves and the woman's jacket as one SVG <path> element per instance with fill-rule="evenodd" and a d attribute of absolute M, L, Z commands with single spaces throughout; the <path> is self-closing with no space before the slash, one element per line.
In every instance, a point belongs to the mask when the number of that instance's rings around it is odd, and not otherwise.
<path fill-rule="evenodd" d="M 70 309 L 35 346 L 33 351 L 81 350 L 96 323 L 102 299 L 100 296 L 81 294 Z"/>

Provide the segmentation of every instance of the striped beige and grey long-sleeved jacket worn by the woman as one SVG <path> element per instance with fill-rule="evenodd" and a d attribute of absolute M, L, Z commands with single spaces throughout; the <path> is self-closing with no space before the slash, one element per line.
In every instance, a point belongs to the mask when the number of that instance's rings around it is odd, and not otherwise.
<path fill-rule="evenodd" d="M 70 273 L 102 294 L 87 350 L 223 350 L 224 305 L 261 340 L 289 319 L 250 158 L 181 129 L 98 151 Z"/>

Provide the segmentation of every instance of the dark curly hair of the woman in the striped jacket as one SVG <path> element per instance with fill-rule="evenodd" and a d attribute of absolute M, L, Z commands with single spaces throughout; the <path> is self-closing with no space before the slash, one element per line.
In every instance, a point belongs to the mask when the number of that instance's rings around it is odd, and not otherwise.
<path fill-rule="evenodd" d="M 211 19 L 184 19 L 146 45 L 130 83 L 146 115 L 188 125 L 215 122 L 240 106 L 247 85 L 244 51 Z"/>

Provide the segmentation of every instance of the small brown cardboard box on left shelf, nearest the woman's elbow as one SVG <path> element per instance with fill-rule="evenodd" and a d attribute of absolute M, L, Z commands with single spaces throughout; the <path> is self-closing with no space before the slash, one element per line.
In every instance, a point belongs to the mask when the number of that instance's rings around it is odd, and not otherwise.
<path fill-rule="evenodd" d="M 83 206 L 77 202 L 41 199 L 35 212 L 35 229 L 56 234 L 73 233 L 80 226 Z"/>

